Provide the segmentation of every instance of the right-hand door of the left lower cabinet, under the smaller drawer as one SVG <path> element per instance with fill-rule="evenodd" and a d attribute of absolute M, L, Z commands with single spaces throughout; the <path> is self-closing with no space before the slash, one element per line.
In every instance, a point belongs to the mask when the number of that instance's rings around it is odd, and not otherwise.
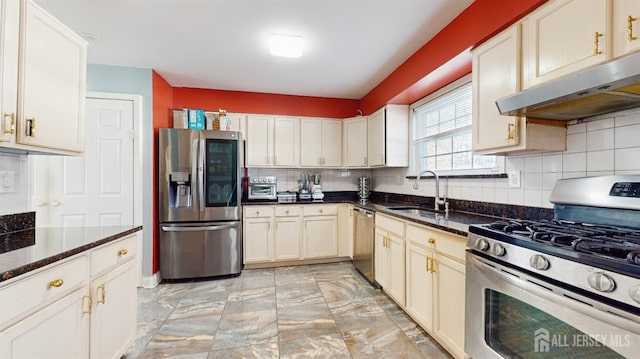
<path fill-rule="evenodd" d="M 91 284 L 92 358 L 120 358 L 136 337 L 136 261 L 129 260 Z"/>

